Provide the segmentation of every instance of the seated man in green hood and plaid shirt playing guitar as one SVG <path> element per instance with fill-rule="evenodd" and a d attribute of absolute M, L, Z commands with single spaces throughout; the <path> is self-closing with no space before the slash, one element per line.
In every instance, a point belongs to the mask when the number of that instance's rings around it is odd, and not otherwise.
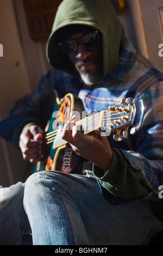
<path fill-rule="evenodd" d="M 159 210 L 154 212 L 155 205 L 162 207 L 161 72 L 135 52 L 108 0 L 64 0 L 47 56 L 54 69 L 1 124 L 3 137 L 19 143 L 24 160 L 34 163 L 45 154 L 38 138 L 53 109 L 51 89 L 60 97 L 78 95 L 89 112 L 124 97 L 143 99 L 145 116 L 139 131 L 121 142 L 98 130 L 84 135 L 75 117 L 60 126 L 61 138 L 84 159 L 82 167 L 34 173 L 25 184 L 5 188 L 1 243 L 19 244 L 31 229 L 34 245 L 148 244 L 163 229 Z M 7 137 L 11 119 L 15 126 Z M 93 175 L 83 175 L 85 163 Z"/>

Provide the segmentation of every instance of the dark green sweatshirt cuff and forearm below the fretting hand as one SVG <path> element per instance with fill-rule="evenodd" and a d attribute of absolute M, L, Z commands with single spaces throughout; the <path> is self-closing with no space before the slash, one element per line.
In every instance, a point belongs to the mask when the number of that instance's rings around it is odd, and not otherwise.
<path fill-rule="evenodd" d="M 120 198 L 147 196 L 151 189 L 142 173 L 130 167 L 120 150 L 112 149 L 112 151 L 113 161 L 107 172 L 104 173 L 104 170 L 93 165 L 93 174 L 99 184 Z"/>

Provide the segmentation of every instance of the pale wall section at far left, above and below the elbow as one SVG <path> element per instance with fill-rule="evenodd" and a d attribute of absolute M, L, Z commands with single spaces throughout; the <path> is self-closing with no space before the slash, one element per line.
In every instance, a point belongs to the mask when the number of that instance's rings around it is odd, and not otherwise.
<path fill-rule="evenodd" d="M 26 60 L 17 29 L 14 6 L 11 0 L 0 0 L 0 120 L 8 117 L 17 99 L 30 93 Z M 12 125 L 12 124 L 11 124 Z M 26 163 L 20 152 L 0 138 L 0 185 L 9 186 L 23 180 Z"/>

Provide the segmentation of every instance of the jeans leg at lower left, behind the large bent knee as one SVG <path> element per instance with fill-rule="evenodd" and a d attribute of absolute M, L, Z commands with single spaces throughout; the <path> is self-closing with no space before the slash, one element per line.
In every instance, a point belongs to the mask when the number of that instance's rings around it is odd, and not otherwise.
<path fill-rule="evenodd" d="M 24 184 L 18 182 L 1 190 L 0 245 L 20 245 L 22 236 L 31 231 L 23 208 Z"/>

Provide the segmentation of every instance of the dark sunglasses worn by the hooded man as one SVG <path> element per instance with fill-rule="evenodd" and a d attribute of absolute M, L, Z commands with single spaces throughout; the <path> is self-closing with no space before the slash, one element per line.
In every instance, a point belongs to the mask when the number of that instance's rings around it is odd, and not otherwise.
<path fill-rule="evenodd" d="M 79 43 L 86 46 L 93 46 L 96 45 L 98 42 L 99 32 L 92 31 L 80 36 L 79 38 L 62 41 L 59 43 L 59 45 L 65 52 L 73 53 L 77 51 Z"/>

